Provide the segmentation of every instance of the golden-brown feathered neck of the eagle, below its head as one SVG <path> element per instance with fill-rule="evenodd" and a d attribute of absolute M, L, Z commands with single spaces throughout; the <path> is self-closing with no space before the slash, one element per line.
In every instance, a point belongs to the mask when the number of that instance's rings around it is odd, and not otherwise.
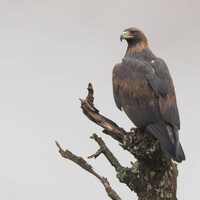
<path fill-rule="evenodd" d="M 129 44 L 125 56 L 133 56 L 140 53 L 143 49 L 149 49 L 146 41 L 138 42 L 137 44 Z"/>

